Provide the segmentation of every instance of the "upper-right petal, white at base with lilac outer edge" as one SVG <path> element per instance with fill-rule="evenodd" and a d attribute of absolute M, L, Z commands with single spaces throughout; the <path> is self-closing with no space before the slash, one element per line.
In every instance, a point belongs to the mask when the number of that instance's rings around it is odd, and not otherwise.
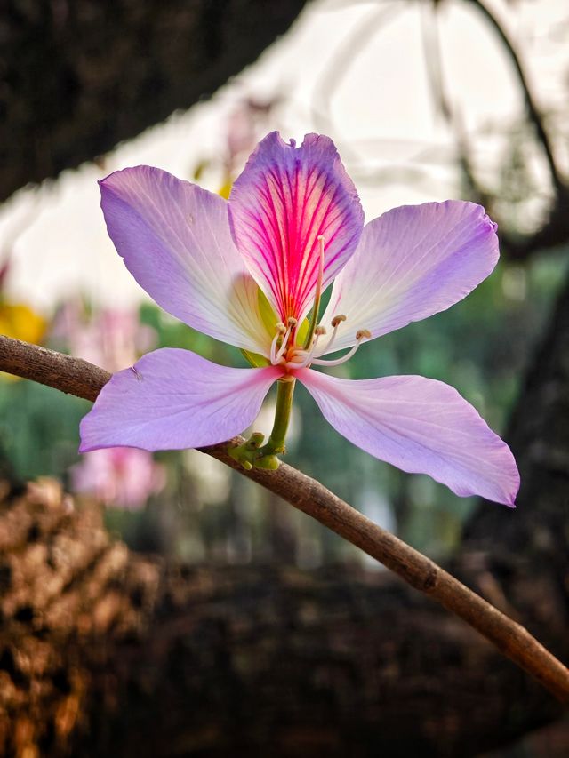
<path fill-rule="evenodd" d="M 364 228 L 333 285 L 322 323 L 346 315 L 333 350 L 356 332 L 372 337 L 445 310 L 466 297 L 498 260 L 496 225 L 475 203 L 447 200 L 394 208 Z"/>

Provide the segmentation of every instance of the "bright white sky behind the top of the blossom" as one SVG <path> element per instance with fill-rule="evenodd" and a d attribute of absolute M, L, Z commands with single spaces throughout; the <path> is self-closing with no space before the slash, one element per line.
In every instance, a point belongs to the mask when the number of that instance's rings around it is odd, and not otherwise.
<path fill-rule="evenodd" d="M 476 136 L 477 156 L 492 176 L 504 140 L 485 135 L 489 125 L 506 128 L 519 119 L 519 91 L 509 61 L 477 12 L 461 0 L 442 5 L 437 36 L 445 87 L 469 134 Z M 491 6 L 525 53 L 525 68 L 541 108 L 560 121 L 569 59 L 566 0 L 517 4 L 493 0 Z M 138 301 L 143 293 L 106 235 L 96 180 L 141 163 L 188 178 L 201 159 L 219 154 L 228 114 L 244 94 L 257 98 L 284 94 L 270 128 L 280 128 L 285 138 L 297 140 L 305 132 L 329 133 L 357 186 L 364 174 L 377 169 L 424 172 L 423 180 L 413 185 L 403 179 L 359 184 L 368 219 L 397 204 L 457 196 L 453 140 L 433 108 L 424 65 L 421 30 L 430 21 L 424 3 L 320 0 L 309 4 L 290 33 L 213 100 L 172 116 L 117 148 L 104 168 L 85 164 L 39 191 L 21 191 L 0 207 L 0 251 L 13 253 L 8 282 L 12 298 L 46 312 L 58 299 L 78 291 L 116 307 Z M 368 34 L 373 28 L 373 35 Z M 337 86 L 329 102 L 329 120 L 323 117 L 322 101 L 331 91 L 331 78 Z M 566 140 L 557 149 L 565 150 L 566 159 Z M 539 156 L 533 164 L 536 176 L 544 176 Z M 206 173 L 203 183 L 212 189 L 219 185 L 212 173 Z M 537 197 L 528 204 L 530 226 L 542 202 Z"/>

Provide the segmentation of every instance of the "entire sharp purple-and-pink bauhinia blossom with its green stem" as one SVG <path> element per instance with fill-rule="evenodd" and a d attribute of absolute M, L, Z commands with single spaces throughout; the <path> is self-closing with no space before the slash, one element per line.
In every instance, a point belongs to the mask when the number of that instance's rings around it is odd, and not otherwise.
<path fill-rule="evenodd" d="M 452 306 L 492 272 L 498 239 L 483 208 L 409 205 L 364 226 L 332 140 L 317 134 L 299 148 L 268 134 L 228 202 L 148 166 L 115 172 L 100 187 L 108 234 L 138 283 L 183 322 L 242 348 L 255 367 L 173 348 L 144 355 L 102 389 L 82 422 L 81 451 L 220 443 L 252 424 L 278 381 L 268 443 L 253 435 L 234 452 L 245 467 L 272 467 L 298 379 L 325 419 L 376 458 L 458 495 L 514 505 L 519 476 L 508 446 L 453 387 L 321 371 L 364 341 Z M 340 350 L 348 352 L 326 357 Z"/>

